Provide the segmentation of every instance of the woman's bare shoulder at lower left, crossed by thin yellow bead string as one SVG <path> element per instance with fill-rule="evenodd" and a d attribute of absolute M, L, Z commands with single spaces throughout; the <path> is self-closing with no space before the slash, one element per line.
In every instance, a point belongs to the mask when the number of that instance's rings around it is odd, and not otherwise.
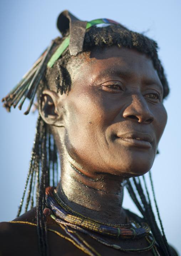
<path fill-rule="evenodd" d="M 84 256 L 85 254 L 66 239 L 63 230 L 50 217 L 48 246 L 53 256 Z M 57 235 L 59 234 L 59 235 Z M 36 208 L 10 222 L 0 223 L 0 256 L 39 256 Z"/>

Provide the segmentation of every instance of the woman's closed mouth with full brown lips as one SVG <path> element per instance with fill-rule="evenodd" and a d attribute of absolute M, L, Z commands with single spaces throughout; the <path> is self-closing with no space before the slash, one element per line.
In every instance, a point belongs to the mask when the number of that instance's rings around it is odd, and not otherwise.
<path fill-rule="evenodd" d="M 141 132 L 127 132 L 117 134 L 115 137 L 120 139 L 121 143 L 143 148 L 150 148 L 151 143 L 153 142 L 151 135 Z"/>

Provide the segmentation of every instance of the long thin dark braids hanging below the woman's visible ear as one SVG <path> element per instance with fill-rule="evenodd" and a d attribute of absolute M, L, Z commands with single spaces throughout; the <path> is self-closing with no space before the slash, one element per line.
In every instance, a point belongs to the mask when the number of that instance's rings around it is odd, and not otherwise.
<path fill-rule="evenodd" d="M 45 188 L 50 185 L 50 179 L 52 181 L 51 185 L 57 185 L 57 147 L 53 140 L 52 134 L 50 133 L 49 127 L 39 116 L 37 120 L 36 136 L 33 143 L 29 173 L 17 216 L 19 216 L 21 213 L 26 190 L 29 186 L 25 211 L 28 210 L 29 206 L 30 209 L 32 209 L 34 206 L 33 203 L 36 201 L 38 244 L 42 256 L 49 255 L 47 225 L 43 210 L 45 209 Z M 36 200 L 34 197 L 36 197 Z"/>

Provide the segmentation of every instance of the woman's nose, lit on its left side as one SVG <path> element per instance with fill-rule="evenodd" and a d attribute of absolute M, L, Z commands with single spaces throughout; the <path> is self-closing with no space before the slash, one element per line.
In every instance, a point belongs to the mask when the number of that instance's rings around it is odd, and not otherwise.
<path fill-rule="evenodd" d="M 152 123 L 154 121 L 154 115 L 149 109 L 147 102 L 143 95 L 131 95 L 130 104 L 126 106 L 123 111 L 123 117 L 125 119 L 132 119 L 138 123 Z"/>

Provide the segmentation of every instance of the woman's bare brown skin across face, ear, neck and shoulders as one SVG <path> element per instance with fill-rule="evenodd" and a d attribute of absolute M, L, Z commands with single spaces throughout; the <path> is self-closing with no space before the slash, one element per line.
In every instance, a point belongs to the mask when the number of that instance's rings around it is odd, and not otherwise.
<path fill-rule="evenodd" d="M 41 116 L 51 125 L 61 153 L 58 194 L 68 206 L 85 216 L 124 224 L 121 184 L 150 170 L 166 125 L 161 82 L 148 56 L 117 46 L 72 57 L 68 70 L 72 74 L 71 90 L 61 95 L 47 89 L 40 105 Z M 35 209 L 17 220 L 36 223 Z M 47 223 L 48 228 L 64 234 L 50 217 Z M 4 234 L 12 236 L 10 240 L 16 237 L 9 247 L 9 239 L 3 236 L 2 255 L 11 255 L 12 251 L 38 255 L 36 227 L 5 222 L 1 227 Z M 85 239 L 100 255 L 123 255 L 86 235 Z M 53 232 L 48 232 L 48 240 L 50 255 L 86 255 Z M 17 246 L 20 241 L 21 250 Z M 126 248 L 148 246 L 144 238 L 110 242 Z M 148 251 L 139 255 L 153 254 Z"/>

